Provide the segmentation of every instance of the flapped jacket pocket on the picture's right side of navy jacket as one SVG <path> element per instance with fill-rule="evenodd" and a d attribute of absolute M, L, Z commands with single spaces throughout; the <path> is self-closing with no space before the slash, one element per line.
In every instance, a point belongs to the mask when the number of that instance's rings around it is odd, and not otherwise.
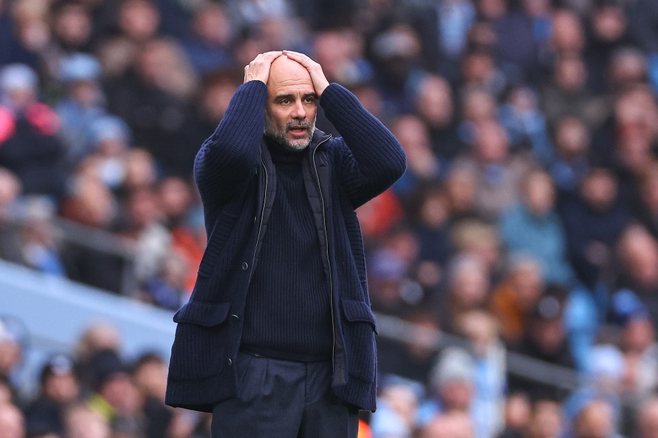
<path fill-rule="evenodd" d="M 374 382 L 376 376 L 375 334 L 377 324 L 370 306 L 362 301 L 341 298 L 345 324 L 345 349 L 348 374 L 363 382 Z"/>

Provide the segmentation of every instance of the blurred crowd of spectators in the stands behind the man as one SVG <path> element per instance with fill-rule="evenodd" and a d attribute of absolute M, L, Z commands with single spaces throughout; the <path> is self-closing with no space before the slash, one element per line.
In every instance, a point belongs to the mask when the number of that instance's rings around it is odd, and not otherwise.
<path fill-rule="evenodd" d="M 0 257 L 179 308 L 195 153 L 250 60 L 302 51 L 408 160 L 357 212 L 374 310 L 417 328 L 380 337 L 363 437 L 657 437 L 656 23 L 655 0 L 0 0 Z M 162 405 L 162 358 L 81 340 L 19 400 L 0 339 L 1 438 L 207 436 Z"/>

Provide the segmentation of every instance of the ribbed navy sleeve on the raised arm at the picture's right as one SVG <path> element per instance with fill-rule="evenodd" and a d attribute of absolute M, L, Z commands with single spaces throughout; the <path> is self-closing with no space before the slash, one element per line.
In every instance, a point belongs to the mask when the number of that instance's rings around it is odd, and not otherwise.
<path fill-rule="evenodd" d="M 320 104 L 349 149 L 343 156 L 341 183 L 356 208 L 402 176 L 404 149 L 387 127 L 339 84 L 324 90 Z"/>

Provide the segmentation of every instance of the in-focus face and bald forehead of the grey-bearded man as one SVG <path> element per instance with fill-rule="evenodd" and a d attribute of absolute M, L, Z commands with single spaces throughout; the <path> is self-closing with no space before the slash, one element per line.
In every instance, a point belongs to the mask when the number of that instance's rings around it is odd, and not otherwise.
<path fill-rule="evenodd" d="M 315 132 L 316 100 L 306 68 L 280 56 L 267 80 L 265 134 L 287 149 L 306 149 Z"/>

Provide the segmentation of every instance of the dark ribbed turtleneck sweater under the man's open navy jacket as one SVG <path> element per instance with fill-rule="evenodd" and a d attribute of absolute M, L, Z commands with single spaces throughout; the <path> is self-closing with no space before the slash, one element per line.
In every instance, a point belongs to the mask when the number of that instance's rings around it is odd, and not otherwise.
<path fill-rule="evenodd" d="M 293 361 L 331 357 L 331 304 L 302 160 L 308 149 L 267 147 L 276 167 L 276 197 L 260 260 L 247 293 L 243 350 Z"/>

